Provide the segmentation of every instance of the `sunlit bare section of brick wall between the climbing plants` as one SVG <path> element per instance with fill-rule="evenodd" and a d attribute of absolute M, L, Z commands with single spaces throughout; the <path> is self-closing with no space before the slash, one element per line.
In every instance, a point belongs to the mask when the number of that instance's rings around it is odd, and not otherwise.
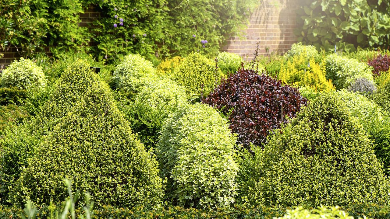
<path fill-rule="evenodd" d="M 261 55 L 284 53 L 297 41 L 296 9 L 299 0 L 263 0 L 250 18 L 250 24 L 241 37 L 232 37 L 223 51 L 237 53 L 250 60 L 259 39 Z"/>

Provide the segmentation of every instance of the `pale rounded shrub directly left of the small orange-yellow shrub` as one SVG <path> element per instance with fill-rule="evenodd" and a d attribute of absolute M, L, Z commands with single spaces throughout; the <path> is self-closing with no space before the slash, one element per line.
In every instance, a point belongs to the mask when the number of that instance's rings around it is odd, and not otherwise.
<path fill-rule="evenodd" d="M 115 67 L 113 81 L 115 86 L 125 92 L 137 93 L 146 81 L 157 74 L 153 64 L 138 54 L 130 54 Z"/>

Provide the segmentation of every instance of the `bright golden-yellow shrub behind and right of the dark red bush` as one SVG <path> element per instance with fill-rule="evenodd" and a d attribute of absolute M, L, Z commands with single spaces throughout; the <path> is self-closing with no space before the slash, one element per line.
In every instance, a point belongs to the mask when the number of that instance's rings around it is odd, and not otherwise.
<path fill-rule="evenodd" d="M 332 81 L 326 79 L 324 65 L 317 64 L 314 58 L 308 61 L 302 53 L 280 65 L 278 79 L 296 87 L 310 87 L 316 92 L 334 89 Z"/>

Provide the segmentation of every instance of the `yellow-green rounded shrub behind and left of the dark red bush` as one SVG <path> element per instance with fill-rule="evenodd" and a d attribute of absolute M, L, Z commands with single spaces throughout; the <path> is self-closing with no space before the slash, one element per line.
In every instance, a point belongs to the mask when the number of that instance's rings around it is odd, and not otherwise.
<path fill-rule="evenodd" d="M 191 53 L 181 62 L 171 78 L 186 88 L 188 95 L 207 95 L 221 79 L 222 72 L 215 70 L 215 64 L 200 53 Z"/>

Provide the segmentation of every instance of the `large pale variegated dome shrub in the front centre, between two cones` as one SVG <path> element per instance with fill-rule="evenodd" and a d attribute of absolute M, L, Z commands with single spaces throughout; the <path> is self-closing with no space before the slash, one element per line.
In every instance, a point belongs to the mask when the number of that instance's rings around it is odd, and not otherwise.
<path fill-rule="evenodd" d="M 238 171 L 227 120 L 205 104 L 185 105 L 168 117 L 157 144 L 166 199 L 184 207 L 234 203 Z"/>

